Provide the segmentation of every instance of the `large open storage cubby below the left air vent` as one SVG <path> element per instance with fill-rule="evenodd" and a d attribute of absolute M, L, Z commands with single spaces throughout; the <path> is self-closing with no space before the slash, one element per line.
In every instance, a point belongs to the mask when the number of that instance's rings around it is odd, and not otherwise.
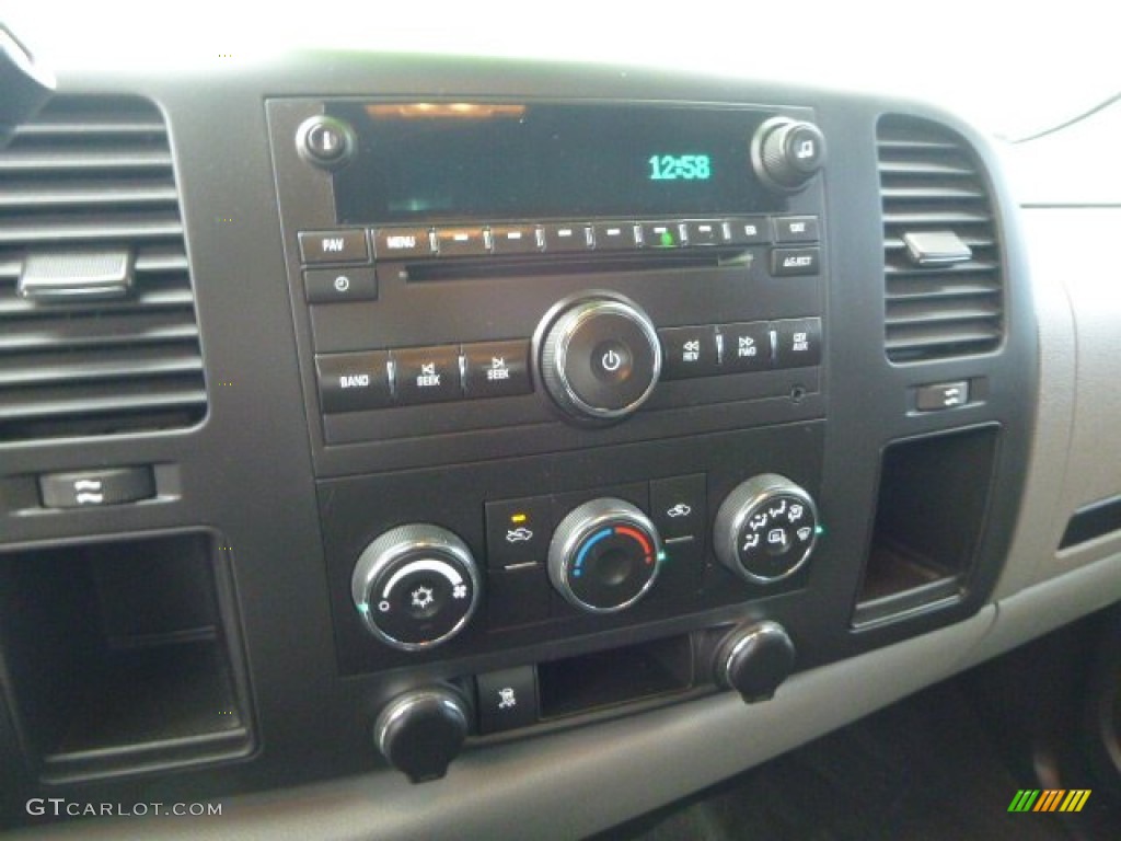
<path fill-rule="evenodd" d="M 229 570 L 207 534 L 0 555 L 0 651 L 44 779 L 251 748 Z"/>

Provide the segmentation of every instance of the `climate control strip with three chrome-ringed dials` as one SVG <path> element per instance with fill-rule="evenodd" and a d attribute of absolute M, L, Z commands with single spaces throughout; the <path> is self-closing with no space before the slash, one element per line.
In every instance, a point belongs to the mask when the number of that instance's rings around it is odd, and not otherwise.
<path fill-rule="evenodd" d="M 430 516 L 390 525 L 352 556 L 340 638 L 352 639 L 345 656 L 358 671 L 502 647 L 549 629 L 750 603 L 805 583 L 799 572 L 822 528 L 813 496 L 794 478 L 736 478 L 722 464 L 483 499 L 474 520 L 481 533 L 463 508 L 441 514 L 438 495 L 434 501 Z M 364 634 L 355 638 L 354 628 Z"/>

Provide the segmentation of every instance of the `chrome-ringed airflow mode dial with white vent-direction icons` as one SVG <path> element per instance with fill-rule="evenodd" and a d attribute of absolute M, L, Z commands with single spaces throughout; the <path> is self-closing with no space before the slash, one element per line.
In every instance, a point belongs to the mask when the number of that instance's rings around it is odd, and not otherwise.
<path fill-rule="evenodd" d="M 716 557 L 744 581 L 793 575 L 817 543 L 817 507 L 786 477 L 763 473 L 739 484 L 716 511 Z"/>

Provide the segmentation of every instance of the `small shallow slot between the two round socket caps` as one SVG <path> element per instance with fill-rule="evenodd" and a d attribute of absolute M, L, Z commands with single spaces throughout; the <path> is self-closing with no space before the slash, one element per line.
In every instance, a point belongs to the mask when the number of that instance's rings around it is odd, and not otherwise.
<path fill-rule="evenodd" d="M 693 644 L 688 636 L 537 666 L 541 719 L 684 692 L 692 685 Z"/>

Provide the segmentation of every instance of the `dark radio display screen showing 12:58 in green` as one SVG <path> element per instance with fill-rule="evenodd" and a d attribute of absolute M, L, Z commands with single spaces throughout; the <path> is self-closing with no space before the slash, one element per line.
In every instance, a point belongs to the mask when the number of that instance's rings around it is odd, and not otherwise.
<path fill-rule="evenodd" d="M 341 224 L 772 210 L 742 108 L 333 102 L 356 135 L 334 174 Z"/>

